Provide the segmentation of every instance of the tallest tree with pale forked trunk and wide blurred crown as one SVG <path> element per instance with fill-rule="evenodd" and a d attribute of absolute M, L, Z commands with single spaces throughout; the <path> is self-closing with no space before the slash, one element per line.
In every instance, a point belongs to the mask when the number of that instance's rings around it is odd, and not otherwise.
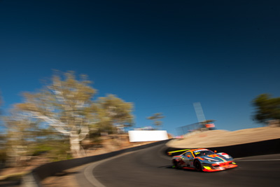
<path fill-rule="evenodd" d="M 50 125 L 69 137 L 73 157 L 83 156 L 80 141 L 85 139 L 92 124 L 96 107 L 92 102 L 96 90 L 86 76 L 76 80 L 72 71 L 52 77 L 52 83 L 36 93 L 25 93 L 25 101 L 15 108 L 23 116 L 36 118 L 41 125 Z"/>

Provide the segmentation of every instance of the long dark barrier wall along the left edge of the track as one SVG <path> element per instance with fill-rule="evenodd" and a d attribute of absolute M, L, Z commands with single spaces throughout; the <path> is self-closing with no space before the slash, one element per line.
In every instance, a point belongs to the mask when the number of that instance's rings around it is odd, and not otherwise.
<path fill-rule="evenodd" d="M 137 151 L 142 148 L 148 148 L 148 147 L 159 145 L 159 144 L 165 144 L 167 141 L 169 141 L 169 139 L 164 140 L 164 141 L 153 142 L 151 144 L 145 144 L 142 146 L 125 148 L 125 149 L 122 149 L 119 151 L 113 151 L 111 153 L 104 153 L 102 155 L 94 155 L 94 156 L 88 156 L 85 158 L 76 158 L 76 159 L 71 159 L 71 160 L 62 160 L 62 161 L 58 161 L 58 162 L 50 162 L 48 164 L 36 167 L 35 169 L 32 170 L 31 173 L 23 176 L 22 177 L 22 186 L 41 187 L 41 181 L 43 179 L 45 179 L 48 176 L 53 176 L 66 169 L 70 169 L 70 168 L 77 167 L 80 165 L 85 165 L 90 162 L 97 162 L 99 160 L 111 158 L 113 156 L 120 155 L 122 153 Z"/>

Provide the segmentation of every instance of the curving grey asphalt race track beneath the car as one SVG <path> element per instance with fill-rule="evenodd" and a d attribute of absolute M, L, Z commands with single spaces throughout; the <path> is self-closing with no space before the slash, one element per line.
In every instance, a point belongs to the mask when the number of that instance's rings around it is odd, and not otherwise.
<path fill-rule="evenodd" d="M 221 172 L 174 169 L 164 145 L 93 163 L 77 177 L 79 186 L 280 186 L 280 154 L 237 158 L 239 167 Z M 92 185 L 94 183 L 94 185 Z"/>

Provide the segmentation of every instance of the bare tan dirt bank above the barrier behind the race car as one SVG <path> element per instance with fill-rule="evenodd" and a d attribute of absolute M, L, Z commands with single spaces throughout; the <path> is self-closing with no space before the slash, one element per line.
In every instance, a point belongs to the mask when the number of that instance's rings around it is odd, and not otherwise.
<path fill-rule="evenodd" d="M 183 139 L 174 139 L 167 146 L 174 148 L 218 147 L 246 144 L 280 138 L 280 127 L 258 127 L 237 131 L 209 130 L 187 134 Z"/>

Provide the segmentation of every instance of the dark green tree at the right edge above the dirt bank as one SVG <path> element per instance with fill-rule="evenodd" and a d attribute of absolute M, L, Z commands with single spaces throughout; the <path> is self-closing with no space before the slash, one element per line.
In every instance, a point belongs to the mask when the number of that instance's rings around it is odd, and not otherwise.
<path fill-rule="evenodd" d="M 267 124 L 269 120 L 280 120 L 280 97 L 262 94 L 253 99 L 253 106 L 256 108 L 253 118 L 258 122 Z"/>

